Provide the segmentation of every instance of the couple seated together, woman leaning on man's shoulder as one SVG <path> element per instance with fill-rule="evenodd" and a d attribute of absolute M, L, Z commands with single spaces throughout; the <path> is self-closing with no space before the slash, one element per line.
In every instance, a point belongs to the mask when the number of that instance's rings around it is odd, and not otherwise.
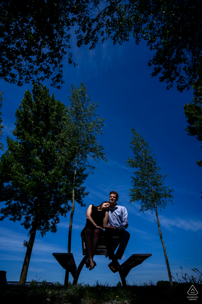
<path fill-rule="evenodd" d="M 87 221 L 81 236 L 85 238 L 88 260 L 86 267 L 92 270 L 96 263 L 93 260 L 99 244 L 99 238 L 104 236 L 109 259 L 112 262 L 108 265 L 114 273 L 120 270 L 118 259 L 121 260 L 128 244 L 130 233 L 125 229 L 128 227 L 128 213 L 125 207 L 117 204 L 118 193 L 111 191 L 109 202 L 103 202 L 99 206 L 90 205 L 87 209 Z M 104 230 L 105 229 L 105 230 Z M 111 237 L 118 236 L 120 244 L 116 254 L 111 244 Z"/>

